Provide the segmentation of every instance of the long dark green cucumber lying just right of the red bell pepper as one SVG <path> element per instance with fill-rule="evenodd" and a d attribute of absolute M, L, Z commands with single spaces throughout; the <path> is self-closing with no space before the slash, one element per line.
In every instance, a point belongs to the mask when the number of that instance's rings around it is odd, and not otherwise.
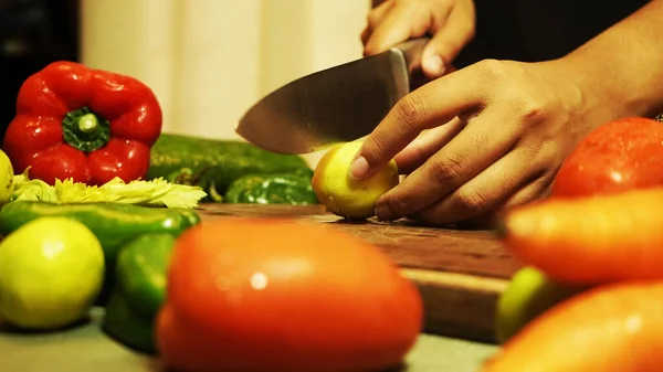
<path fill-rule="evenodd" d="M 218 140 L 161 134 L 150 151 L 147 179 L 201 187 L 220 201 L 228 187 L 246 174 L 293 173 L 309 170 L 295 155 L 280 155 L 239 140 Z"/>

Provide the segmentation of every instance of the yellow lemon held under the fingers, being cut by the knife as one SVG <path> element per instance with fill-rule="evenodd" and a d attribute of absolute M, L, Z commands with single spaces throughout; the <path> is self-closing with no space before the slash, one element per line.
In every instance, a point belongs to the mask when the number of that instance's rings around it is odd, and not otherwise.
<path fill-rule="evenodd" d="M 348 220 L 375 215 L 376 201 L 399 182 L 393 159 L 379 172 L 365 180 L 349 176 L 352 159 L 362 141 L 338 145 L 328 150 L 315 168 L 311 184 L 327 211 Z"/>

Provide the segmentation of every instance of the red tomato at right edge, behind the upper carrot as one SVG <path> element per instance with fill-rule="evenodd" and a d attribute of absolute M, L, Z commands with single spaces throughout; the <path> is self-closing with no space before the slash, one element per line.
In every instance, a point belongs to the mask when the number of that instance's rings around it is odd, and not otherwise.
<path fill-rule="evenodd" d="M 564 161 L 551 195 L 576 198 L 663 185 L 663 124 L 642 117 L 603 125 Z"/>

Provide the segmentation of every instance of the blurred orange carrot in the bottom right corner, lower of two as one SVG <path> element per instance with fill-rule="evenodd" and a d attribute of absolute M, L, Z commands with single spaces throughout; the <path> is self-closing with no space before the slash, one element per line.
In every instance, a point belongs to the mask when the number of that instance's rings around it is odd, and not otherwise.
<path fill-rule="evenodd" d="M 599 286 L 526 326 L 482 372 L 660 372 L 663 283 Z"/>

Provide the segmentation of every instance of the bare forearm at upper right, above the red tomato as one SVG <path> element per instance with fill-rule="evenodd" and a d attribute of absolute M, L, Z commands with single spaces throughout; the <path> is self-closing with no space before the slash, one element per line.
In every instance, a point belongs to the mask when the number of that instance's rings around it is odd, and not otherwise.
<path fill-rule="evenodd" d="M 562 59 L 614 116 L 663 111 L 663 0 L 653 0 Z"/>

